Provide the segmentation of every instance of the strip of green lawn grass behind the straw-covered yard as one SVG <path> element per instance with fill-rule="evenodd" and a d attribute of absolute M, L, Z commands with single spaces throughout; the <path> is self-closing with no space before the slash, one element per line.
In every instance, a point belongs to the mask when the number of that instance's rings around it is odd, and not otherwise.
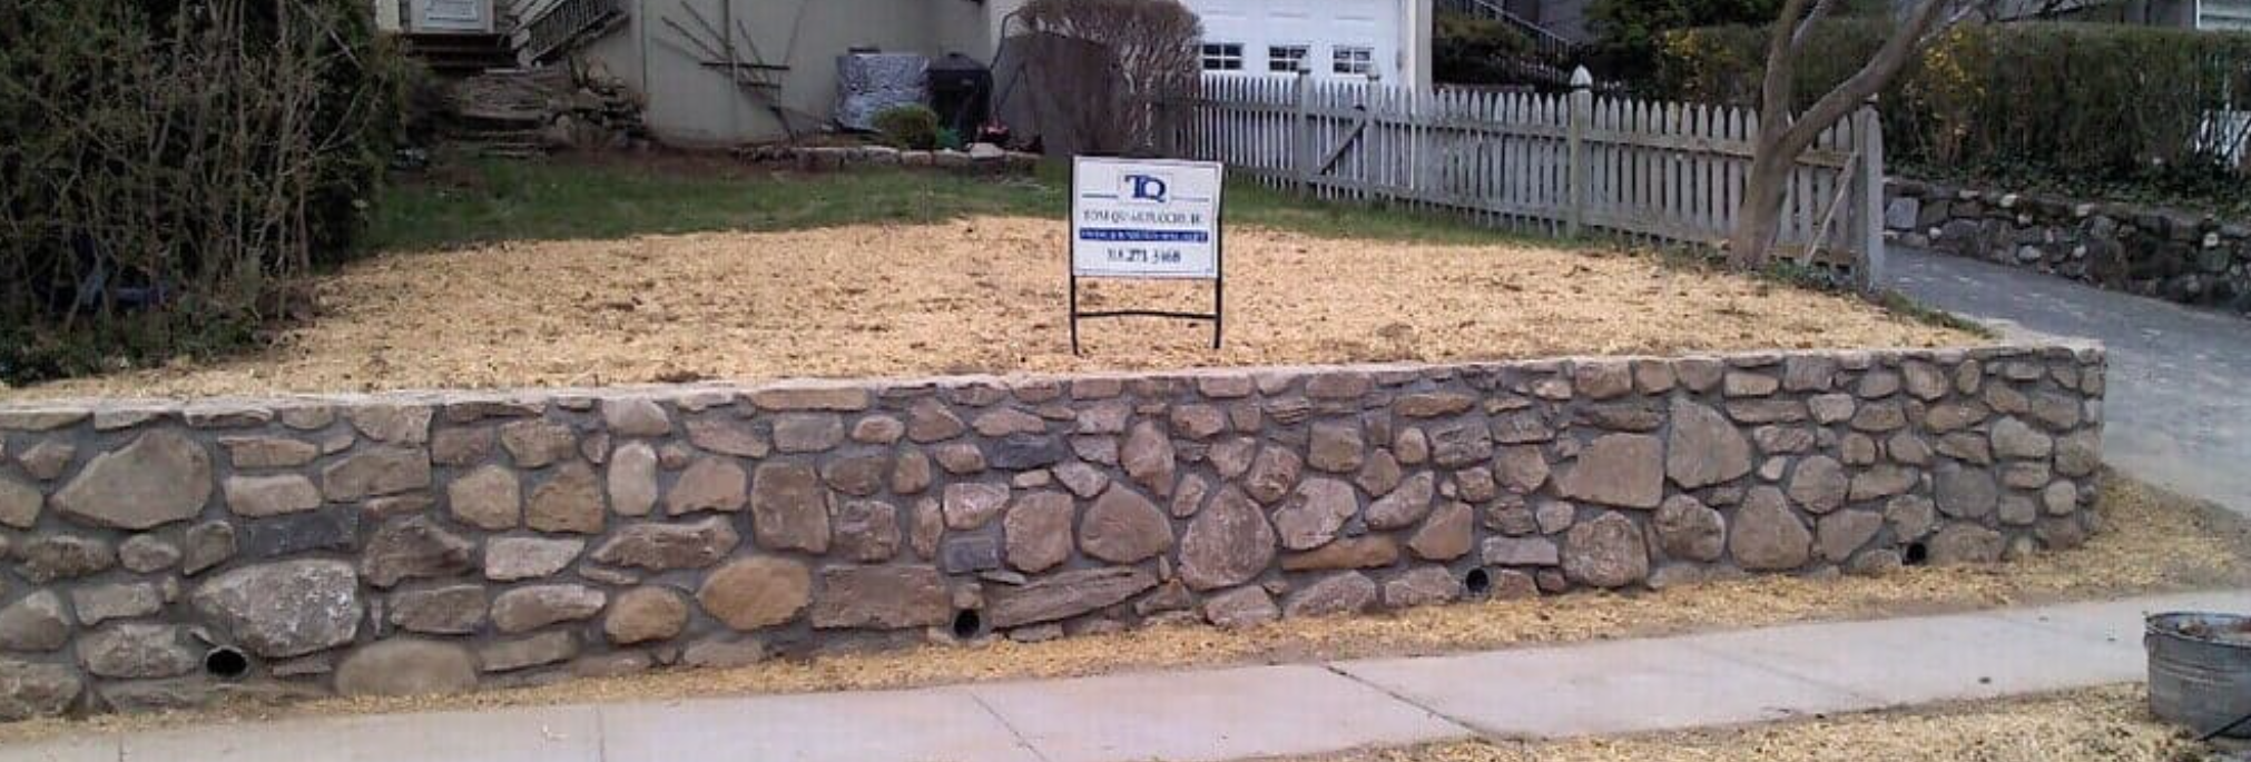
<path fill-rule="evenodd" d="M 1069 166 L 1062 162 L 1006 178 L 907 169 L 808 175 L 727 162 L 459 160 L 432 173 L 394 178 L 362 241 L 374 252 L 412 252 L 495 241 L 941 223 L 993 214 L 1062 220 L 1069 211 Z M 1249 180 L 1229 182 L 1227 223 L 1324 238 L 1524 241 L 1436 214 L 1312 202 Z"/>

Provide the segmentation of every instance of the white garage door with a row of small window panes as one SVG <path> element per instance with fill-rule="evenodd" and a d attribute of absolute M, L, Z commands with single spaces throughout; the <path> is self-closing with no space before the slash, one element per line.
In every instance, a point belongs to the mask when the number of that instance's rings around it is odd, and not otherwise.
<path fill-rule="evenodd" d="M 1189 0 L 1204 18 L 1204 67 L 1398 79 L 1400 0 Z"/>

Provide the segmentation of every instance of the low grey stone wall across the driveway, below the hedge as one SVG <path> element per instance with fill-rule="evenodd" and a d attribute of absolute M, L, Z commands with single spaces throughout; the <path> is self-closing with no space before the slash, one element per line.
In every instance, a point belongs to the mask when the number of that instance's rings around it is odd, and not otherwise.
<path fill-rule="evenodd" d="M 1893 241 L 2251 315 L 2251 225 L 2174 209 L 1893 180 Z"/>

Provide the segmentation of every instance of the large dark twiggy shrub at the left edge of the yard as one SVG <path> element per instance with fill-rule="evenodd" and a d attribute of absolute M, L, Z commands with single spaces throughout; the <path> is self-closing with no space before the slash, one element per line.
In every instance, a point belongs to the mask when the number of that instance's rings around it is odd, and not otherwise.
<path fill-rule="evenodd" d="M 0 4 L 0 382 L 288 310 L 353 252 L 407 79 L 362 0 Z"/>

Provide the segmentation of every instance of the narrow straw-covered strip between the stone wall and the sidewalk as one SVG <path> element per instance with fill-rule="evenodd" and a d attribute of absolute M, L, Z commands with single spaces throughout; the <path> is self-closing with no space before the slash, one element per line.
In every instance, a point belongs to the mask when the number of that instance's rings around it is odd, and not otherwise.
<path fill-rule="evenodd" d="M 234 704 L 191 715 L 50 719 L 0 726 L 0 742 L 59 733 L 259 722 L 288 715 L 864 690 L 1189 665 L 1443 654 L 1528 643 L 1663 636 L 2251 584 L 2251 530 L 2226 510 L 2111 477 L 2102 492 L 2102 515 L 2109 530 L 2096 535 L 2087 546 L 2001 566 L 1918 566 L 1889 578 L 1841 580 L 1751 578 L 1654 593 L 1573 593 L 1544 600 L 1427 607 L 1393 616 L 1281 620 L 1247 632 L 1155 627 L 1049 643 L 930 645 L 900 652 L 770 661 L 741 670 L 671 670 L 588 679 L 461 697 L 322 699 L 290 706 Z"/>

